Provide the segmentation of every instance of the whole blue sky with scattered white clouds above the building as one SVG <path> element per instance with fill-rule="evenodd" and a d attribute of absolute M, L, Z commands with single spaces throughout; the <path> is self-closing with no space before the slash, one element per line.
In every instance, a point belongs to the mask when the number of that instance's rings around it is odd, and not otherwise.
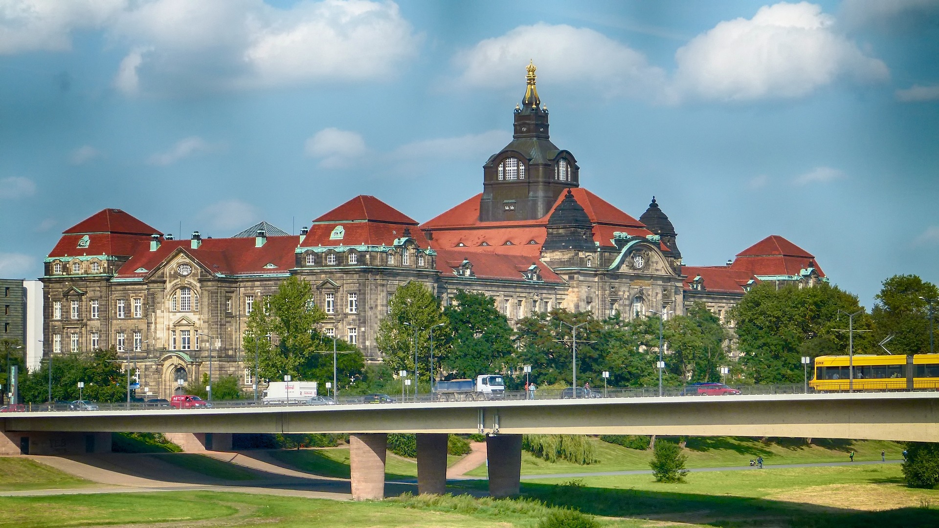
<path fill-rule="evenodd" d="M 770 234 L 870 308 L 939 282 L 939 0 L 0 0 L 0 277 L 105 207 L 298 233 L 482 190 L 525 67 L 580 182 L 685 264 Z"/>

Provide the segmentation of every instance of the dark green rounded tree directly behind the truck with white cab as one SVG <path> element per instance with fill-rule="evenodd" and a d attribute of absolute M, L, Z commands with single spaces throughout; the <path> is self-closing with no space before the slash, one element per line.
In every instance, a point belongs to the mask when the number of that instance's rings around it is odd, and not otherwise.
<path fill-rule="evenodd" d="M 457 378 L 475 378 L 478 374 L 500 371 L 512 356 L 512 328 L 496 309 L 496 301 L 486 294 L 468 294 L 460 290 L 454 304 L 443 309 L 453 335 L 448 354 L 441 365 Z M 443 328 L 440 328 L 441 330 Z M 445 334 L 439 333 L 440 337 Z M 435 338 L 438 336 L 435 333 Z"/>

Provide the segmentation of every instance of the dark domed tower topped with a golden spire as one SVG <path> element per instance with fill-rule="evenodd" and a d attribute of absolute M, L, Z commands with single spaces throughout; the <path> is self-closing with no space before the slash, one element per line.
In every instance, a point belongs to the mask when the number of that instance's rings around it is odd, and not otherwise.
<path fill-rule="evenodd" d="M 535 67 L 526 68 L 525 97 L 516 105 L 512 143 L 483 165 L 482 221 L 543 218 L 564 189 L 579 185 L 570 152 L 551 143 L 547 108 L 535 86 Z"/>

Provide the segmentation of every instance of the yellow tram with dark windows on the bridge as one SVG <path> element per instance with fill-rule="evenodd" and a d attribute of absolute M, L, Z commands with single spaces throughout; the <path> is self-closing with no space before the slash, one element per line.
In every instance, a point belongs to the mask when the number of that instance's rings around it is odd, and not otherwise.
<path fill-rule="evenodd" d="M 847 355 L 815 358 L 808 383 L 817 391 L 848 390 Z M 939 388 L 939 354 L 854 355 L 854 390 L 911 390 Z"/>

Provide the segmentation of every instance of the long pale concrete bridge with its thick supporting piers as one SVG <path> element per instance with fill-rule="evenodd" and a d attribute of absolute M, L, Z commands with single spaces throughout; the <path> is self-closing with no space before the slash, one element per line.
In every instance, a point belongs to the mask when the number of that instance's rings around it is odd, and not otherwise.
<path fill-rule="evenodd" d="M 521 435 L 781 436 L 939 442 L 939 392 L 490 400 L 0 415 L 0 454 L 110 450 L 111 431 L 163 432 L 231 448 L 231 433 L 350 433 L 352 494 L 384 495 L 390 432 L 417 433 L 418 489 L 442 493 L 447 433 L 485 433 L 489 491 L 518 492 Z M 25 439 L 25 440 L 23 440 Z"/>

